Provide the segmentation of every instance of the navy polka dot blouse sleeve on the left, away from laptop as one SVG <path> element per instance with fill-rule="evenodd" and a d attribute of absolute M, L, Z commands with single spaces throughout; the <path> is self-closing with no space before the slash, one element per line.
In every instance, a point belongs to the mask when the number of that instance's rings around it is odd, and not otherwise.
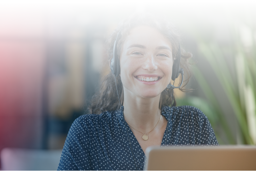
<path fill-rule="evenodd" d="M 89 133 L 86 124 L 82 122 L 85 118 L 77 118 L 70 127 L 58 170 L 91 170 Z"/>

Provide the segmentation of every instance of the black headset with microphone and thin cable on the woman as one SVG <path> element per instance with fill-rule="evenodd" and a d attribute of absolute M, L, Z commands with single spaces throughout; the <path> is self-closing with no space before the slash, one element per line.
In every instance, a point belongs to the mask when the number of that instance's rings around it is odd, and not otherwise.
<path fill-rule="evenodd" d="M 117 44 L 118 44 L 118 38 L 119 38 L 118 36 L 119 36 L 119 34 L 120 34 L 120 32 L 117 33 L 117 36 L 116 36 L 116 39 L 115 39 L 115 42 L 114 42 L 114 47 L 113 47 L 113 57 L 111 58 L 111 61 L 110 61 L 110 69 L 111 69 L 111 72 L 115 76 L 115 84 L 116 84 L 116 77 L 118 77 L 119 74 L 120 74 L 120 62 L 119 62 L 119 58 L 117 56 Z M 173 66 L 172 66 L 172 80 L 174 82 L 173 82 L 173 85 L 171 83 L 167 85 L 168 89 L 172 89 L 171 105 L 172 105 L 172 102 L 173 102 L 173 89 L 174 88 L 180 88 L 182 86 L 182 83 L 183 83 L 183 75 L 184 75 L 184 73 L 183 73 L 183 68 L 180 68 L 180 61 L 181 61 L 181 47 L 180 47 L 180 43 L 179 43 L 178 53 L 176 54 L 176 56 L 174 58 L 174 62 L 173 62 Z M 178 78 L 180 73 L 182 75 L 181 84 L 179 86 L 175 87 L 174 86 L 175 79 Z M 124 119 L 124 123 L 125 123 L 124 111 L 123 111 L 123 108 L 122 108 L 122 105 L 121 105 L 121 102 L 120 102 L 120 99 L 119 99 L 117 85 L 116 85 L 116 91 L 117 91 L 117 96 L 118 96 L 119 104 L 120 104 L 121 109 L 122 109 L 123 119 Z M 170 120 L 170 116 L 171 115 L 169 115 L 168 121 Z M 135 158 L 134 158 L 134 155 L 133 155 L 133 152 L 132 152 L 131 141 L 130 141 L 130 137 L 129 137 L 129 134 L 128 134 L 128 130 L 127 130 L 126 124 L 125 124 L 125 127 L 126 127 L 126 132 L 127 132 L 128 140 L 129 140 L 129 143 L 130 143 L 130 149 L 131 149 L 133 161 L 134 161 L 134 164 L 136 166 L 136 170 L 138 170 L 138 167 L 136 165 Z M 167 128 L 168 128 L 168 125 L 167 125 Z M 166 141 L 167 141 L 167 135 L 168 135 L 168 129 L 167 129 L 167 132 L 166 132 Z M 166 144 L 166 141 L 165 141 L 165 144 Z M 142 169 L 142 168 L 140 168 L 140 169 Z"/>

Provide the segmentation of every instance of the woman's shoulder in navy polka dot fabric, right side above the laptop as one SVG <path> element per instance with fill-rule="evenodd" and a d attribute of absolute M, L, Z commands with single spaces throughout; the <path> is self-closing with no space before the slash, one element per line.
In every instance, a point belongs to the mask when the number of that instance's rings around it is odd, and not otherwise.
<path fill-rule="evenodd" d="M 172 131 L 181 136 L 176 140 L 186 142 L 188 136 L 189 144 L 218 145 L 212 126 L 200 109 L 193 106 L 177 106 L 170 108 L 170 111 Z"/>

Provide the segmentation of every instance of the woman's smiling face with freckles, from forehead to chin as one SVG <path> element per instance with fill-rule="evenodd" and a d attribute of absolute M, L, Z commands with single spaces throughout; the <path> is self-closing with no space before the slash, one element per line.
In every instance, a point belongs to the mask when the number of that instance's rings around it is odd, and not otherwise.
<path fill-rule="evenodd" d="M 154 98 L 167 87 L 172 75 L 172 45 L 157 29 L 131 29 L 120 54 L 124 91 Z"/>

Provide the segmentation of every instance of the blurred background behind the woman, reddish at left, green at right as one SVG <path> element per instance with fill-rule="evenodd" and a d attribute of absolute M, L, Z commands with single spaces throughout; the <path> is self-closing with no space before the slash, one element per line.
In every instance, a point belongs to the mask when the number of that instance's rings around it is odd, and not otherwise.
<path fill-rule="evenodd" d="M 187 85 L 194 90 L 175 90 L 177 104 L 201 109 L 220 144 L 256 144 L 255 6 L 255 1 L 0 1 L 0 168 L 51 169 L 45 165 L 52 161 L 57 169 L 72 122 L 88 113 L 85 106 L 109 72 L 105 40 L 134 12 L 165 14 L 194 55 Z"/>

